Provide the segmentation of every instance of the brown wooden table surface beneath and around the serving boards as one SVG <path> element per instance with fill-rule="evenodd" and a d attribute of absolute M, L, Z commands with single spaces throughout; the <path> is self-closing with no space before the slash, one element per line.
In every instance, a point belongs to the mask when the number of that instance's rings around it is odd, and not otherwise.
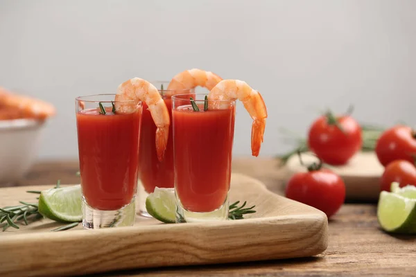
<path fill-rule="evenodd" d="M 234 159 L 234 172 L 263 181 L 284 194 L 287 172 L 275 159 Z M 26 178 L 8 186 L 77 184 L 78 162 L 33 166 Z M 266 235 L 266 234 L 265 234 Z M 416 276 L 416 236 L 388 235 L 379 228 L 376 204 L 344 204 L 329 221 L 329 246 L 316 257 L 243 264 L 123 271 L 105 276 Z"/>

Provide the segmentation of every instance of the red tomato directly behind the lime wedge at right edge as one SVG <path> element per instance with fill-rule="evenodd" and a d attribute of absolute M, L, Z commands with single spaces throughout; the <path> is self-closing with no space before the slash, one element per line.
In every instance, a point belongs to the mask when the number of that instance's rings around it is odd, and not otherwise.
<path fill-rule="evenodd" d="M 400 187 L 416 186 L 416 167 L 406 160 L 396 160 L 389 163 L 381 176 L 380 190 L 390 191 L 392 182 L 398 182 Z"/>

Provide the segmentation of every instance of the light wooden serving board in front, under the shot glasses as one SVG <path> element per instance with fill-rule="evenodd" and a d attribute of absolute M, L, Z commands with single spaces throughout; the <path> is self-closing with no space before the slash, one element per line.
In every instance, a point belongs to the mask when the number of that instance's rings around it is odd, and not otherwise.
<path fill-rule="evenodd" d="M 0 189 L 0 207 L 52 186 Z M 62 225 L 33 222 L 0 233 L 0 276 L 68 276 L 119 269 L 203 265 L 315 256 L 327 249 L 327 217 L 311 206 L 270 193 L 256 179 L 232 175 L 230 200 L 257 213 L 244 220 L 163 224 L 137 216 L 135 226 L 50 232 Z"/>

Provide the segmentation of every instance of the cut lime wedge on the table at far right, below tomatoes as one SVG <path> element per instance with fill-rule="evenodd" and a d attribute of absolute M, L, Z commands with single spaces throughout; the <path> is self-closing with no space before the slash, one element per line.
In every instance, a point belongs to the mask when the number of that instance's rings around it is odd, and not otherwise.
<path fill-rule="evenodd" d="M 409 186 L 410 187 L 410 186 Z M 416 233 L 416 193 L 413 188 L 398 188 L 396 193 L 382 191 L 377 206 L 377 219 L 389 233 Z"/>

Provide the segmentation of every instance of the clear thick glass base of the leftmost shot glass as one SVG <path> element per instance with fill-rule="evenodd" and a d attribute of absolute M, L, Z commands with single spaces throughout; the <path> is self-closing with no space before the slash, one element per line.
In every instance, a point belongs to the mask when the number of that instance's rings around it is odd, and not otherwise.
<path fill-rule="evenodd" d="M 133 226 L 136 218 L 136 199 L 115 211 L 101 211 L 91 208 L 83 197 L 84 229 L 102 229 L 121 226 Z"/>

